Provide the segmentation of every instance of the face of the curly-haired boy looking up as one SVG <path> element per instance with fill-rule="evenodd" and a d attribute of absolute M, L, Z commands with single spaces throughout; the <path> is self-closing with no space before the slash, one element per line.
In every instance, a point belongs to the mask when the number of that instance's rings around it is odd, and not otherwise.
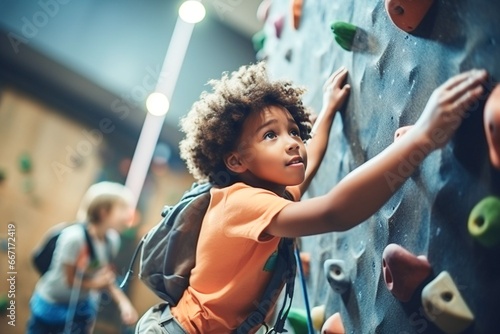
<path fill-rule="evenodd" d="M 283 107 L 269 106 L 248 116 L 233 159 L 233 171 L 257 186 L 293 186 L 304 181 L 307 165 L 299 127 Z"/>

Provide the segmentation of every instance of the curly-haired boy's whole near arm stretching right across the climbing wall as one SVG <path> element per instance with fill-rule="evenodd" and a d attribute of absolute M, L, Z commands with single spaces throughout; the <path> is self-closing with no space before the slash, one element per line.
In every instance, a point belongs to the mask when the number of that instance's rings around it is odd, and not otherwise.
<path fill-rule="evenodd" d="M 283 208 L 265 230 L 279 237 L 344 231 L 369 218 L 433 150 L 444 146 L 482 94 L 486 71 L 452 77 L 431 95 L 415 126 L 328 194 Z"/>

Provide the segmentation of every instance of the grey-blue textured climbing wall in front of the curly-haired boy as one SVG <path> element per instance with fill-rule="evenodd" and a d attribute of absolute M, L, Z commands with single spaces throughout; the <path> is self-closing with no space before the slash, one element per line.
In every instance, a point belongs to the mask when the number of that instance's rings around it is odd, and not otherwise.
<path fill-rule="evenodd" d="M 435 0 L 410 33 L 393 24 L 381 0 L 304 0 L 295 29 L 292 2 L 272 2 L 258 57 L 268 59 L 275 78 L 306 86 L 305 102 L 315 110 L 321 107 L 322 84 L 334 69 L 346 66 L 352 85 L 308 196 L 326 193 L 390 145 L 396 129 L 413 124 L 432 91 L 447 78 L 470 68 L 486 68 L 491 76 L 489 91 L 500 79 L 500 2 Z M 334 40 L 330 25 L 336 21 L 357 26 L 352 51 Z M 460 295 L 475 320 L 459 331 L 498 332 L 500 250 L 483 246 L 467 227 L 469 214 L 481 199 L 500 195 L 499 173 L 488 159 L 482 123 L 485 100 L 471 107 L 453 141 L 433 152 L 368 221 L 347 232 L 304 238 L 303 250 L 312 255 L 311 306 L 325 305 L 327 317 L 340 312 L 346 333 L 442 333 L 436 319 L 445 319 L 446 308 L 457 306 Z M 384 281 L 382 255 L 391 243 L 426 256 L 431 266 L 431 273 L 406 302 L 391 294 Z M 325 273 L 324 262 L 329 259 L 341 260 L 330 261 L 337 265 L 330 268 L 340 271 Z M 431 304 L 438 306 L 430 312 L 431 321 L 425 315 L 422 289 L 443 271 L 457 290 L 444 280 L 451 296 L 439 294 L 439 289 L 434 297 L 430 293 Z M 418 274 L 416 269 L 410 272 Z M 334 283 L 337 280 L 337 291 L 327 274 Z M 394 290 L 398 277 L 392 279 Z"/>

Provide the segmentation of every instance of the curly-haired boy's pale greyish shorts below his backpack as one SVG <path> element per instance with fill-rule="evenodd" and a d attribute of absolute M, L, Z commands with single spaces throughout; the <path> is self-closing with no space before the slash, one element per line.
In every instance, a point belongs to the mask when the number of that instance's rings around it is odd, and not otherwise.
<path fill-rule="evenodd" d="M 135 326 L 136 334 L 188 334 L 170 312 L 168 303 L 151 307 Z"/>

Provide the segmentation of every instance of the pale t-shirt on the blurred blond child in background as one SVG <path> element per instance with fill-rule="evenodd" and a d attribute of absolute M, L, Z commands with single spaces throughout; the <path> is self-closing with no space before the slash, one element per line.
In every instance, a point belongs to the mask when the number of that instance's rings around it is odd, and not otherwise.
<path fill-rule="evenodd" d="M 110 243 L 109 246 L 106 245 L 107 242 Z M 109 229 L 106 232 L 106 240 L 92 238 L 92 245 L 98 260 L 98 266 L 86 268 L 84 272 L 85 278 L 92 277 L 99 269 L 108 264 L 109 251 L 111 251 L 113 257 L 118 253 L 120 236 L 117 231 Z M 79 255 L 85 251 L 86 247 L 87 240 L 81 224 L 71 225 L 63 229 L 57 239 L 49 270 L 38 281 L 35 293 L 48 302 L 68 303 L 72 287 L 68 285 L 64 265 L 75 265 Z M 89 290 L 80 289 L 79 299 L 88 298 L 89 293 Z"/>

